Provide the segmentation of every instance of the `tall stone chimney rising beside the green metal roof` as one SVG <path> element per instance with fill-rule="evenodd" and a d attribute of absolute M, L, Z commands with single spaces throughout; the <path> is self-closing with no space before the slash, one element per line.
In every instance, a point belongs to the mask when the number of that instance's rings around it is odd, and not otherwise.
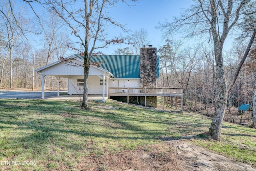
<path fill-rule="evenodd" d="M 156 87 L 156 48 L 140 48 L 140 87 Z"/>

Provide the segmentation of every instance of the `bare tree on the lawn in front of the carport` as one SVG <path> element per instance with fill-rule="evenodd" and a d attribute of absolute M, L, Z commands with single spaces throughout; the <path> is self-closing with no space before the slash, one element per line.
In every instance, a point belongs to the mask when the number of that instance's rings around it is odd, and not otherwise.
<path fill-rule="evenodd" d="M 72 34 L 79 40 L 80 55 L 84 56 L 84 94 L 82 108 L 88 108 L 88 75 L 91 56 L 95 50 L 107 47 L 109 44 L 124 42 L 124 38 L 107 39 L 110 25 L 125 28 L 120 22 L 110 18 L 108 8 L 112 8 L 118 0 L 24 0 L 30 6 L 37 2 L 42 7 L 59 16 L 72 30 Z M 125 2 L 125 1 L 122 1 Z M 73 47 L 74 48 L 74 47 Z"/>

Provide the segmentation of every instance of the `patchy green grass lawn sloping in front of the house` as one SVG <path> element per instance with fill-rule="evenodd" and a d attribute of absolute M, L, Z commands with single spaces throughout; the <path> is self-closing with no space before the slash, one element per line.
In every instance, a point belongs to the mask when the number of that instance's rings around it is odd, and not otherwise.
<path fill-rule="evenodd" d="M 198 135 L 191 143 L 256 166 L 256 129 L 224 123 L 222 141 L 216 142 L 203 135 L 210 119 L 195 113 L 157 112 L 113 101 L 90 101 L 90 110 L 78 105 L 78 101 L 0 99 L 0 162 L 36 162 L 1 164 L 0 169 L 74 171 L 88 156 L 97 159 L 185 135 Z"/>

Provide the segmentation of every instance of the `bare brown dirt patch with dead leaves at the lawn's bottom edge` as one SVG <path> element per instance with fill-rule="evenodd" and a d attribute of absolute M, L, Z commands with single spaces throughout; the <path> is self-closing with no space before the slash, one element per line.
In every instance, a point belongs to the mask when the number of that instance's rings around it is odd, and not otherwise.
<path fill-rule="evenodd" d="M 250 165 L 192 145 L 189 140 L 165 141 L 143 149 L 85 157 L 82 171 L 256 171 Z"/>

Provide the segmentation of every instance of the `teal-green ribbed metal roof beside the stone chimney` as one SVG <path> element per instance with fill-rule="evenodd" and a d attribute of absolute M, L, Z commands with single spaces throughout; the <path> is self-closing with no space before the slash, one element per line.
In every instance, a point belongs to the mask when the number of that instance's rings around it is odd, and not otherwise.
<path fill-rule="evenodd" d="M 84 60 L 84 56 L 74 56 Z M 102 62 L 100 67 L 111 72 L 115 78 L 140 78 L 139 55 L 93 55 L 92 62 Z M 159 78 L 159 56 L 156 58 L 156 78 Z"/>

